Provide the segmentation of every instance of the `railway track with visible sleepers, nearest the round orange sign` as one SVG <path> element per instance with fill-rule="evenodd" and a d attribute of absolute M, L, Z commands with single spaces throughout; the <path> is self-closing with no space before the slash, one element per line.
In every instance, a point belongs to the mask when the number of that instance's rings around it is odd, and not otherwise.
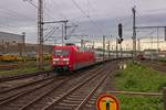
<path fill-rule="evenodd" d="M 83 108 L 86 108 L 84 110 L 87 110 L 90 105 L 95 103 L 95 100 L 97 98 L 95 96 L 95 92 L 103 84 L 103 81 L 106 80 L 110 74 L 108 72 L 110 70 L 104 70 L 103 74 L 97 73 L 97 75 L 87 78 L 85 81 L 76 85 L 75 87 L 71 88 L 68 92 L 64 92 L 58 99 L 53 100 L 42 110 L 83 110 Z"/>

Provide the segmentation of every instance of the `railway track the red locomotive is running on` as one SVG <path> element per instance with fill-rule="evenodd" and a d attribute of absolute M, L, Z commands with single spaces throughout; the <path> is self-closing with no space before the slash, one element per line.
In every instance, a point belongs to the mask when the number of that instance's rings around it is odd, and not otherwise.
<path fill-rule="evenodd" d="M 96 65 L 100 65 L 100 64 L 96 64 Z M 85 69 L 79 70 L 79 72 L 83 72 L 83 70 Z M 25 85 L 33 84 L 33 81 L 35 82 L 37 80 L 41 80 L 51 75 L 54 75 L 54 74 L 51 70 L 46 70 L 46 72 L 38 72 L 38 73 L 32 73 L 32 74 L 24 74 L 24 75 L 17 75 L 17 76 L 11 76 L 11 77 L 0 78 L 0 92 L 9 91 L 9 89 L 12 90 L 12 88 L 17 88 L 17 87 L 24 87 Z"/>

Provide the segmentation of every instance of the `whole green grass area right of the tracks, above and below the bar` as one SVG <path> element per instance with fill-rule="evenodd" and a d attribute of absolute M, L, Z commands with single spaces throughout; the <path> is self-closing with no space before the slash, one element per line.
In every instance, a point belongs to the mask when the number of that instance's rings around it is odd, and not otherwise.
<path fill-rule="evenodd" d="M 166 87 L 166 74 L 128 63 L 127 69 L 116 72 L 115 87 L 124 91 L 162 92 Z M 118 95 L 118 99 L 121 110 L 163 110 L 162 97 Z"/>

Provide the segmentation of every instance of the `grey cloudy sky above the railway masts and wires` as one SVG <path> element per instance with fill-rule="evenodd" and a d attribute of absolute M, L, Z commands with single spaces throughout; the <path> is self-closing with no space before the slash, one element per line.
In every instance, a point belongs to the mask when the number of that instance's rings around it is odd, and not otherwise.
<path fill-rule="evenodd" d="M 166 25 L 166 0 L 43 0 L 44 21 L 69 20 L 69 34 L 89 35 L 100 40 L 102 35 L 117 36 L 117 24 L 123 23 L 124 37 L 132 36 L 132 8 L 136 6 L 138 25 Z M 38 6 L 38 0 L 31 1 Z M 74 24 L 79 25 L 74 30 Z M 27 42 L 37 41 L 37 8 L 24 0 L 0 1 L 0 31 L 27 33 Z M 49 34 L 51 33 L 51 34 Z M 158 31 L 160 38 L 163 30 Z M 156 35 L 155 30 L 139 30 L 139 36 Z M 44 25 L 45 40 L 61 40 L 61 24 Z M 72 36 L 71 41 L 79 40 Z M 52 41 L 52 38 L 50 38 Z"/>

